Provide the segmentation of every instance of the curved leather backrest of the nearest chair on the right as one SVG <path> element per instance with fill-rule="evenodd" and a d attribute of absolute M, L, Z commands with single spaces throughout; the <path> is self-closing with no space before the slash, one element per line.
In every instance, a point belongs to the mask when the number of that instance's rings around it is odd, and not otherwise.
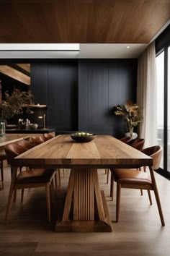
<path fill-rule="evenodd" d="M 157 170 L 161 163 L 163 148 L 160 145 L 156 145 L 150 148 L 145 148 L 142 152 L 153 158 L 153 170 Z"/>

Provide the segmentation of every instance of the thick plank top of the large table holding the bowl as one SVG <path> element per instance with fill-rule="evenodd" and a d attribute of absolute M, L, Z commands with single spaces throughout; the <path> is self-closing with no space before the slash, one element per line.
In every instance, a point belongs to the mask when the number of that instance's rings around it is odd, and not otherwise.
<path fill-rule="evenodd" d="M 109 135 L 77 143 L 70 135 L 58 135 L 14 158 L 14 166 L 91 168 L 151 166 L 153 159 Z"/>

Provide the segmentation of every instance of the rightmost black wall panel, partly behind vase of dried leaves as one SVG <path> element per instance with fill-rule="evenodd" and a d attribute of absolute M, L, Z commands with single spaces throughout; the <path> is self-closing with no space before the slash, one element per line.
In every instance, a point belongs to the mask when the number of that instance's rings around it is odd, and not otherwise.
<path fill-rule="evenodd" d="M 136 101 L 137 60 L 117 59 L 109 61 L 109 129 L 115 136 L 124 135 L 127 123 L 112 113 L 112 107 L 124 105 L 127 100 Z"/>

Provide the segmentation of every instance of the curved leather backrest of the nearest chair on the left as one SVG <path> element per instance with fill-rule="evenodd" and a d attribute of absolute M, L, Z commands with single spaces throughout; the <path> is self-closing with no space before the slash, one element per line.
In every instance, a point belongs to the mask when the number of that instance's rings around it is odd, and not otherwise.
<path fill-rule="evenodd" d="M 4 150 L 6 153 L 7 162 L 10 165 L 12 165 L 12 161 L 17 155 L 20 155 L 27 151 L 27 149 L 24 148 L 22 145 L 18 145 L 17 142 L 5 145 Z"/>

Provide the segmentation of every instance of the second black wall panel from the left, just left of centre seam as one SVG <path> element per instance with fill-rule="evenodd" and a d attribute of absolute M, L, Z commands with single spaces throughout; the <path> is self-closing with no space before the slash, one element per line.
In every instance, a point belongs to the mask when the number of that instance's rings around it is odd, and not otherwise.
<path fill-rule="evenodd" d="M 78 111 L 76 61 L 48 64 L 48 124 L 57 130 L 76 130 Z"/>

